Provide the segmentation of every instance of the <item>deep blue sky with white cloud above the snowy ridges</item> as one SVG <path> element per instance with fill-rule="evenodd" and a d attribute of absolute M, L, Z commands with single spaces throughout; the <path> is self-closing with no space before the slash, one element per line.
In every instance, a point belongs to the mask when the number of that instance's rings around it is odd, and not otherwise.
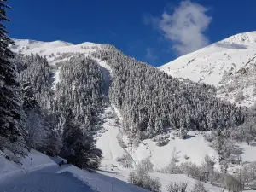
<path fill-rule="evenodd" d="M 12 38 L 113 44 L 160 66 L 255 31 L 255 0 L 9 0 Z"/>

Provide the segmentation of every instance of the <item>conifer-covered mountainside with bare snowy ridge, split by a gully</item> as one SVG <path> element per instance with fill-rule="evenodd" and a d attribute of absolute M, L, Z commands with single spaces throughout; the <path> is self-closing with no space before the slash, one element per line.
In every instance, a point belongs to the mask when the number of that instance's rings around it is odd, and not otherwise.
<path fill-rule="evenodd" d="M 154 137 L 166 127 L 208 131 L 218 125 L 241 125 L 244 120 L 240 108 L 216 99 L 213 86 L 181 82 L 147 63 L 126 56 L 111 45 L 15 41 L 16 45 L 11 49 L 16 52 L 26 55 L 38 53 L 46 57 L 38 59 L 38 62 L 32 62 L 33 56 L 21 59 L 21 62 L 25 60 L 21 65 L 24 69 L 22 80 L 35 84 L 35 90 L 42 84 L 47 85 L 40 89 L 46 91 L 44 97 L 47 98 L 40 101 L 51 111 L 65 111 L 63 106 L 72 108 L 78 119 L 80 116 L 84 119 L 86 113 L 94 125 L 97 110 L 90 111 L 90 114 L 88 108 L 101 106 L 102 100 L 96 98 L 102 98 L 98 95 L 104 90 L 105 96 L 108 95 L 109 101 L 122 113 L 126 133 L 140 139 Z M 49 69 L 46 74 L 50 75 L 44 79 L 46 75 L 42 72 L 46 67 Z M 37 76 L 35 71 L 38 71 Z M 42 78 L 39 82 L 38 79 Z"/>

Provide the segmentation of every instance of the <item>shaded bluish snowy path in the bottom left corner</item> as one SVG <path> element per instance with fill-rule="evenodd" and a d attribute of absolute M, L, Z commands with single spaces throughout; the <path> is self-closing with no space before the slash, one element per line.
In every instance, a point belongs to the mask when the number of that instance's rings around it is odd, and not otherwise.
<path fill-rule="evenodd" d="M 18 174 L 0 180 L 0 192 L 94 192 L 70 172 L 60 172 L 67 166 L 48 166 L 34 172 Z"/>

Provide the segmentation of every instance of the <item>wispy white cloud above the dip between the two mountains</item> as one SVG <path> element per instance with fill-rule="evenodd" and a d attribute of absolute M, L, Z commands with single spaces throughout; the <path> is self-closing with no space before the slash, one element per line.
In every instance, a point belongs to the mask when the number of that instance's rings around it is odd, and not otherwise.
<path fill-rule="evenodd" d="M 158 27 L 167 39 L 172 41 L 172 49 L 178 55 L 201 49 L 209 44 L 203 32 L 212 18 L 207 16 L 207 8 L 189 0 L 183 1 L 172 14 L 164 12 L 158 20 Z"/>

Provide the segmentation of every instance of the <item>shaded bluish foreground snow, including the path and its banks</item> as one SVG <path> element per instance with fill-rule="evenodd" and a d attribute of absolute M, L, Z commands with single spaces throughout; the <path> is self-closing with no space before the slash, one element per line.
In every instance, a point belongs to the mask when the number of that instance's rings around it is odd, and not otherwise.
<path fill-rule="evenodd" d="M 18 166 L 0 156 L 0 192 L 146 192 L 101 172 L 87 172 L 73 165 L 59 167 L 56 163 L 61 160 L 32 150 Z"/>

